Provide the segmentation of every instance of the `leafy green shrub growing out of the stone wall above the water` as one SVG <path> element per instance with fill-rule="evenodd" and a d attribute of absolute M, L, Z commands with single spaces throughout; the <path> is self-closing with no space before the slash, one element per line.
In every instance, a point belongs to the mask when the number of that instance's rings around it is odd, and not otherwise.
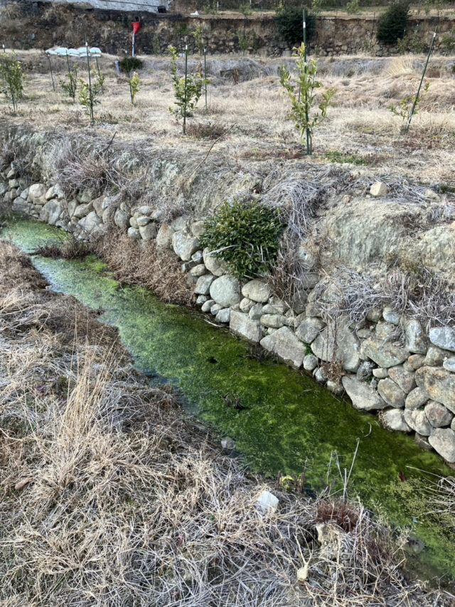
<path fill-rule="evenodd" d="M 269 270 L 277 258 L 283 231 L 277 209 L 268 209 L 252 200 L 235 200 L 223 204 L 205 222 L 200 244 L 223 259 L 232 275 L 252 278 Z"/>

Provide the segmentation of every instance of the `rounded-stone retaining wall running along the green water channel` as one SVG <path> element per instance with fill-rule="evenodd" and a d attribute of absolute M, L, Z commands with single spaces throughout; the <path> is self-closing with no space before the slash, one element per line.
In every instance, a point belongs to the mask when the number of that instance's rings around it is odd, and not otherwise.
<path fill-rule="evenodd" d="M 130 207 L 119 196 L 79 191 L 68 200 L 58 184 L 28 184 L 11 164 L 0 173 L 0 199 L 14 211 L 50 223 L 77 238 L 102 234 L 109 222 L 129 238 L 156 242 L 180 258 L 196 305 L 221 326 L 260 344 L 295 369 L 304 369 L 353 406 L 379 413 L 390 431 L 414 433 L 422 448 L 455 463 L 455 329 L 434 327 L 390 307 L 373 308 L 363 322 L 328 318 L 335 286 L 316 278 L 291 308 L 262 280 L 241 283 L 199 238 L 203 218 L 161 221 L 151 206 Z M 373 189 L 374 191 L 374 189 Z M 402 327 L 405 339 L 397 340 Z"/>

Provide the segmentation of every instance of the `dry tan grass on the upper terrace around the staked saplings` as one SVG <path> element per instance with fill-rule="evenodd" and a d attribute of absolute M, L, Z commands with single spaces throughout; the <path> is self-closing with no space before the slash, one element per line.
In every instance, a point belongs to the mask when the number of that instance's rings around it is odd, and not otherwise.
<path fill-rule="evenodd" d="M 21 51 L 27 63 L 42 62 L 37 51 Z M 282 94 L 277 68 L 284 60 L 255 59 L 251 74 L 251 60 L 236 57 L 213 57 L 208 60 L 212 85 L 209 91 L 208 112 L 203 103 L 188 120 L 189 129 L 200 122 L 222 122 L 235 125 L 229 136 L 217 143 L 218 153 L 240 167 L 248 159 L 280 158 L 289 154 L 289 148 L 299 146 L 299 134 L 289 119 L 289 106 Z M 54 59 L 58 75 L 65 71 L 64 60 Z M 407 56 L 390 59 L 367 57 L 339 58 L 333 63 L 321 58 L 321 80 L 338 91 L 328 120 L 315 132 L 314 151 L 323 158 L 327 151 L 354 154 L 365 164 L 375 167 L 375 158 L 397 171 L 422 181 L 450 181 L 453 164 L 455 97 L 453 75 L 449 61 L 432 58 L 440 71 L 439 78 L 429 78 L 430 88 L 422 101 L 420 114 L 415 117 L 410 134 L 400 133 L 400 119 L 387 106 L 395 105 L 405 95 L 417 90 L 421 68 L 419 59 Z M 205 154 L 210 142 L 185 138 L 181 124 L 175 121 L 168 107 L 173 103 L 173 91 L 166 58 L 144 57 L 141 70 L 141 91 L 137 106 L 129 101 L 129 89 L 123 76 L 114 72 L 114 57 L 102 58 L 106 75 L 107 93 L 96 108 L 95 132 L 108 139 L 117 132 L 116 139 L 125 142 L 145 141 L 158 144 L 163 151 L 181 147 L 186 154 Z M 198 67 L 192 58 L 191 69 Z M 235 65 L 245 80 L 232 85 L 226 70 Z M 229 68 L 229 69 L 228 69 Z M 81 73 L 85 65 L 80 62 Z M 436 72 L 434 72 L 436 73 Z M 87 126 L 87 117 L 80 106 L 68 104 L 59 90 L 53 93 L 46 74 L 31 72 L 26 93 L 31 97 L 21 104 L 17 117 L 9 122 L 31 122 L 36 128 L 60 125 L 66 130 Z M 203 117 L 203 120 L 201 118 Z M 429 154 L 429 149 L 432 153 Z"/>

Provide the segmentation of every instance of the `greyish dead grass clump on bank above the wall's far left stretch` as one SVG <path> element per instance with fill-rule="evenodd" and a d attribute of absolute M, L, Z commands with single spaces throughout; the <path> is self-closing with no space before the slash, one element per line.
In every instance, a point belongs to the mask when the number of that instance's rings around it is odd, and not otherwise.
<path fill-rule="evenodd" d="M 51 170 L 65 194 L 72 196 L 77 191 L 90 189 L 97 196 L 109 187 L 122 189 L 124 178 L 108 151 L 109 147 L 90 150 L 82 137 L 59 141 L 51 155 Z"/>

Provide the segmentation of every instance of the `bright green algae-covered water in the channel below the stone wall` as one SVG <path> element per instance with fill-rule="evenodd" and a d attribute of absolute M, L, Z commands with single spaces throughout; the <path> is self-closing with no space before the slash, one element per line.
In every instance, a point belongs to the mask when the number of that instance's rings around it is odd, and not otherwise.
<path fill-rule="evenodd" d="M 18 219 L 3 237 L 29 253 L 64 238 L 58 228 Z M 434 453 L 411 437 L 389 433 L 377 418 L 355 411 L 314 381 L 274 361 L 258 361 L 247 343 L 217 329 L 197 312 L 160 302 L 139 287 L 121 287 L 96 258 L 33 263 L 53 289 L 101 310 L 118 327 L 137 367 L 181 389 L 188 408 L 235 439 L 251 468 L 269 477 L 301 475 L 314 490 L 350 468 L 350 495 L 392 524 L 408 527 L 425 548 L 414 565 L 428 576 L 455 576 L 454 524 L 429 514 L 425 487 L 448 473 Z M 329 463 L 331 466 L 329 467 Z M 405 479 L 405 480 L 403 480 Z"/>

